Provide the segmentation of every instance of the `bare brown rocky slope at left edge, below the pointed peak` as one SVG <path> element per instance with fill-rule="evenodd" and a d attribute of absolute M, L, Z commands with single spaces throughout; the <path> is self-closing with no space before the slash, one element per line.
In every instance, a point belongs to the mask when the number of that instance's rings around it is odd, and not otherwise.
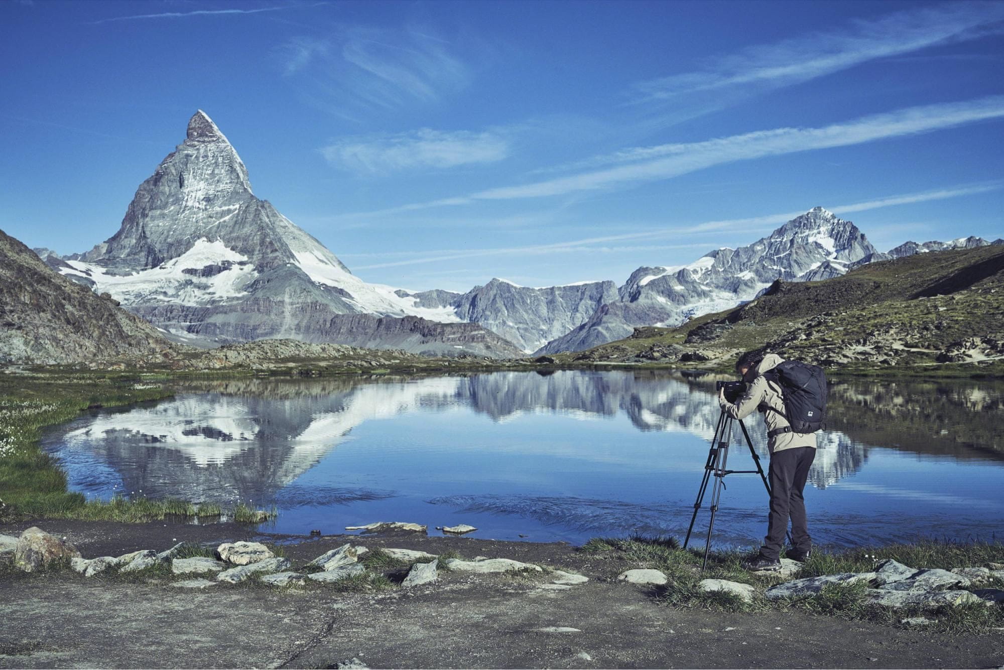
<path fill-rule="evenodd" d="M 0 231 L 0 363 L 163 362 L 175 355 L 149 323 L 60 277 Z"/>

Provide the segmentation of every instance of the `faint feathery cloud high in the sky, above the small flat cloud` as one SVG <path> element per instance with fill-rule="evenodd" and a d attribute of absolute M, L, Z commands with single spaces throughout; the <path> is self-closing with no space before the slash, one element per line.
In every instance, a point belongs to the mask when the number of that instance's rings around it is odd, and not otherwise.
<path fill-rule="evenodd" d="M 304 97 L 354 118 L 353 110 L 432 102 L 464 86 L 470 68 L 454 50 L 430 31 L 342 25 L 324 38 L 293 38 L 274 53 Z"/>

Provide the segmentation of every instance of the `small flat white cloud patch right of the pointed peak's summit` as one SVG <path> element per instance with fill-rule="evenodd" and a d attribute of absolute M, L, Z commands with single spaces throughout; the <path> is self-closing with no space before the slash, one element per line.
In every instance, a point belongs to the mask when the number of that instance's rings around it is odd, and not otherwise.
<path fill-rule="evenodd" d="M 491 132 L 422 128 L 394 135 L 344 137 L 323 147 L 321 153 L 338 168 L 378 174 L 497 162 L 509 154 L 509 144 Z"/>

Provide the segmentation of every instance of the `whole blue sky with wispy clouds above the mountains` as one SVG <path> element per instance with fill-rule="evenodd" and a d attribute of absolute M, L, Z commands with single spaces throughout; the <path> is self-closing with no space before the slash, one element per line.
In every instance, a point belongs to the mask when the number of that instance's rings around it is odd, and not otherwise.
<path fill-rule="evenodd" d="M 83 251 L 204 109 L 367 281 L 612 279 L 821 205 L 1004 236 L 1004 2 L 0 3 L 0 228 Z"/>

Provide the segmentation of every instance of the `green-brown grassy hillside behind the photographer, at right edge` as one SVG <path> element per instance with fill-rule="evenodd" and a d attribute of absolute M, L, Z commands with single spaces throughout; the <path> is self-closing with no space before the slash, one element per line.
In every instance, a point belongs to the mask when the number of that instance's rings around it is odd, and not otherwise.
<path fill-rule="evenodd" d="M 1004 369 L 1004 246 L 916 254 L 821 282 L 776 282 L 760 298 L 674 329 L 568 356 L 716 361 L 762 349 L 831 368 L 996 365 Z"/>

